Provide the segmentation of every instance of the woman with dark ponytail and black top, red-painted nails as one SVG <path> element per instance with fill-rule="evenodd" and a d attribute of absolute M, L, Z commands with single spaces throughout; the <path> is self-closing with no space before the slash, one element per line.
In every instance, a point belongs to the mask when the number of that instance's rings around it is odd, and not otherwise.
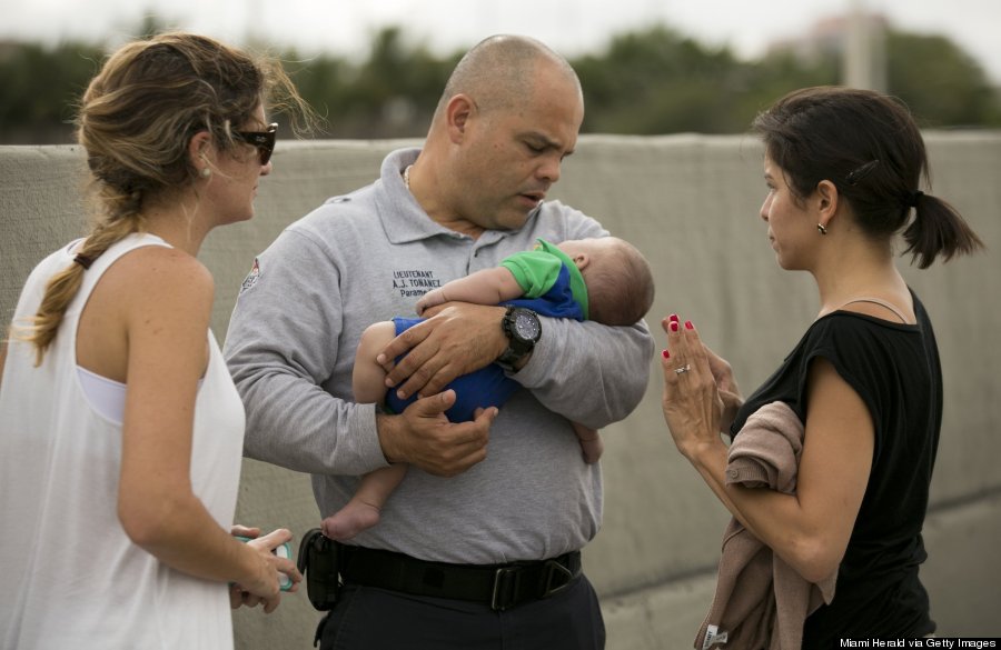
<path fill-rule="evenodd" d="M 939 442 L 942 374 L 921 301 L 894 264 L 902 232 L 920 268 L 981 242 L 921 191 L 924 143 L 885 96 L 811 88 L 754 121 L 765 146 L 761 218 L 779 264 L 810 272 L 816 320 L 746 401 L 730 366 L 687 321 L 663 321 L 663 410 L 678 450 L 733 517 L 806 581 L 836 573 L 833 600 L 805 620 L 803 647 L 934 631 L 918 578 Z M 772 402 L 805 427 L 794 494 L 727 484 L 727 448 Z"/>

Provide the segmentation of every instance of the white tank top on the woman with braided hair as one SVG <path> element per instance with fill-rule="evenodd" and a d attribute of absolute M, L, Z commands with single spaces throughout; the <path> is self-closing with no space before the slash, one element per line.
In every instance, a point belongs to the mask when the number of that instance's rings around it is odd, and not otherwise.
<path fill-rule="evenodd" d="M 143 246 L 135 234 L 83 274 L 42 364 L 11 341 L 0 383 L 0 649 L 230 649 L 227 586 L 161 564 L 126 536 L 116 512 L 121 424 L 87 399 L 76 363 L 80 312 L 102 273 Z M 72 263 L 70 244 L 32 271 L 16 320 L 34 314 L 48 279 Z M 244 408 L 211 331 L 191 450 L 195 494 L 232 523 Z"/>

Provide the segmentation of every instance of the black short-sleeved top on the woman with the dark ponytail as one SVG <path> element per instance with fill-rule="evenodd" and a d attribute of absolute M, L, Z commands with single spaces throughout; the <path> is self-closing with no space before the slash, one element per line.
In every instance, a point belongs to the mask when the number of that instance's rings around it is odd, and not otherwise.
<path fill-rule="evenodd" d="M 921 528 L 942 424 L 942 369 L 931 321 L 913 291 L 916 324 L 849 311 L 817 319 L 737 413 L 781 400 L 806 421 L 810 362 L 823 357 L 869 408 L 875 432 L 872 471 L 834 599 L 806 619 L 804 650 L 840 638 L 921 637 L 933 632 L 918 579 L 926 558 Z"/>

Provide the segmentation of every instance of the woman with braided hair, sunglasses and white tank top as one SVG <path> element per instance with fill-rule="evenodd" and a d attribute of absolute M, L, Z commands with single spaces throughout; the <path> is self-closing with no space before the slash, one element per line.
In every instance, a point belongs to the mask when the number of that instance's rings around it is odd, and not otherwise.
<path fill-rule="evenodd" d="M 32 271 L 0 356 L 0 648 L 232 648 L 228 583 L 270 611 L 279 572 L 300 580 L 270 552 L 289 531 L 230 534 L 244 409 L 196 258 L 254 214 L 276 90 L 298 101 L 277 66 L 178 33 L 83 96 L 100 213 Z"/>

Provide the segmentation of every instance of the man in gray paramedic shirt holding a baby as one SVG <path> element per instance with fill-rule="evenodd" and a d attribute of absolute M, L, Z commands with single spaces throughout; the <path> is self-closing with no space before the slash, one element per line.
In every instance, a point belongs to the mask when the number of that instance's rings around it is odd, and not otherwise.
<path fill-rule="evenodd" d="M 384 351 L 387 382 L 423 399 L 388 414 L 351 396 L 368 324 L 413 314 L 425 291 L 536 238 L 608 234 L 544 200 L 583 117 L 562 57 L 492 37 L 456 67 L 422 150 L 394 151 L 373 184 L 293 223 L 244 282 L 226 357 L 247 409 L 246 456 L 311 473 L 321 517 L 361 474 L 412 466 L 380 522 L 338 544 L 345 586 L 317 631 L 321 649 L 604 647 L 579 554 L 601 526 L 602 473 L 571 421 L 601 429 L 638 404 L 645 323 L 447 303 Z M 454 393 L 439 391 L 495 361 L 524 389 L 499 412 L 448 422 Z"/>

